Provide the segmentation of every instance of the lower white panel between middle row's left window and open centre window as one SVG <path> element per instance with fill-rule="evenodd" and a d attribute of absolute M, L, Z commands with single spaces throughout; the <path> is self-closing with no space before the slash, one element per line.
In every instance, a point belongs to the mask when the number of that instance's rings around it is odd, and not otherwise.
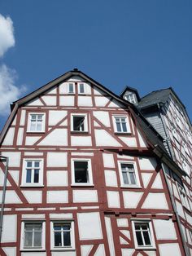
<path fill-rule="evenodd" d="M 48 187 L 68 186 L 67 170 L 49 170 L 46 172 L 46 177 Z"/>

